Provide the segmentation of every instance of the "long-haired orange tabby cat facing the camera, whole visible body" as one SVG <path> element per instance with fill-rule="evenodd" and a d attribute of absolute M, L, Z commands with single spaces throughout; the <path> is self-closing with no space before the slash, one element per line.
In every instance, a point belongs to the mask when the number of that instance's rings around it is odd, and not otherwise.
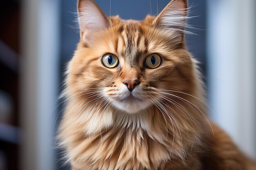
<path fill-rule="evenodd" d="M 156 17 L 107 17 L 78 0 L 80 42 L 66 71 L 60 145 L 72 170 L 253 170 L 207 119 L 198 62 L 186 49 L 188 4 Z"/>

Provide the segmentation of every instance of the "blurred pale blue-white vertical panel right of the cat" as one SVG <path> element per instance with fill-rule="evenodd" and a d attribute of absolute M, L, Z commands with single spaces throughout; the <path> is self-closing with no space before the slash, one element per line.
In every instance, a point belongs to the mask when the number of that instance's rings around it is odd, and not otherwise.
<path fill-rule="evenodd" d="M 256 159 L 256 1 L 208 0 L 207 16 L 213 118 Z"/>

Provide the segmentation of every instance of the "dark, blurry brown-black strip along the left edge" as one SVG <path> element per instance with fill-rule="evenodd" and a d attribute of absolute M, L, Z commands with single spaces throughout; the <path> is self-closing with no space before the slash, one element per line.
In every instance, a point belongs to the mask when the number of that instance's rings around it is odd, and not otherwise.
<path fill-rule="evenodd" d="M 0 170 L 18 169 L 20 3 L 0 5 Z"/>

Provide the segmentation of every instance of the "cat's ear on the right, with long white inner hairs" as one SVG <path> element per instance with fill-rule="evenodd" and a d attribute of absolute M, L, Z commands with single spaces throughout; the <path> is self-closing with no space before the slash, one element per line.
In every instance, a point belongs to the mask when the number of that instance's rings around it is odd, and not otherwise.
<path fill-rule="evenodd" d="M 187 0 L 172 0 L 155 18 L 158 26 L 167 30 L 175 30 L 182 37 L 186 27 Z"/>

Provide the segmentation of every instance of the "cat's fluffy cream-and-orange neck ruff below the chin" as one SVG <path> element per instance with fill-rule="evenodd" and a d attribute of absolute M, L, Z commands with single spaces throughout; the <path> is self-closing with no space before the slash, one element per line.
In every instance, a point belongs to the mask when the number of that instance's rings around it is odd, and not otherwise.
<path fill-rule="evenodd" d="M 198 125 L 183 119 L 183 124 L 179 122 L 177 126 L 175 121 L 179 120 L 164 117 L 155 106 L 136 114 L 108 106 L 102 113 L 95 115 L 95 110 L 81 111 L 83 115 L 79 117 L 83 121 L 76 123 L 74 120 L 79 120 L 77 117 L 67 118 L 66 134 L 62 134 L 66 136 L 63 144 L 72 144 L 68 148 L 68 158 L 81 169 L 94 169 L 105 162 L 112 165 L 103 170 L 111 166 L 122 169 L 128 164 L 132 169 L 139 169 L 140 166 L 157 169 L 161 163 L 170 160 L 183 161 L 182 166 L 186 167 L 190 160 L 185 159 L 190 155 L 188 150 L 195 153 L 202 146 L 202 129 Z M 150 167 L 152 165 L 154 167 Z"/>

